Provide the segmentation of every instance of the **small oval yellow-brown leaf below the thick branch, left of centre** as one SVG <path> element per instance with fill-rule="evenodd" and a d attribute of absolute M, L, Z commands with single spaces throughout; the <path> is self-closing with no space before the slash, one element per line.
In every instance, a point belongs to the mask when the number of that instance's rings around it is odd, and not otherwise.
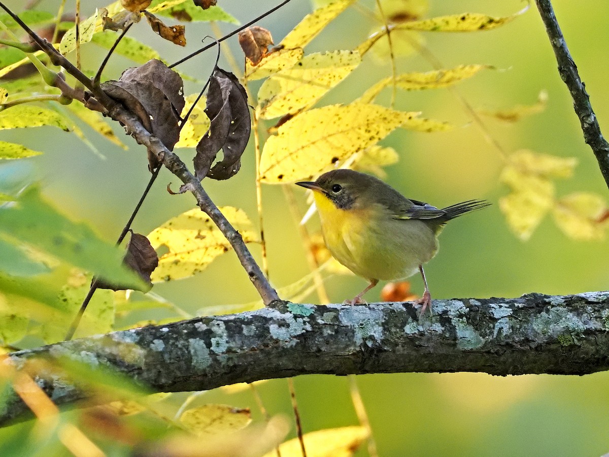
<path fill-rule="evenodd" d="M 180 422 L 197 436 L 209 436 L 241 430 L 252 422 L 252 414 L 248 408 L 203 405 L 184 411 L 180 416 Z"/>

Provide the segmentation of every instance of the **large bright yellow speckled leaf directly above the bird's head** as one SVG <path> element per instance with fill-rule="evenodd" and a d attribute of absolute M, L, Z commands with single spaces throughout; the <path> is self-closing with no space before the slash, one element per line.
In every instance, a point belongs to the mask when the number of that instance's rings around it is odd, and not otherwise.
<path fill-rule="evenodd" d="M 301 113 L 271 136 L 262 150 L 261 181 L 290 183 L 309 179 L 376 144 L 418 113 L 379 105 L 329 105 Z"/>

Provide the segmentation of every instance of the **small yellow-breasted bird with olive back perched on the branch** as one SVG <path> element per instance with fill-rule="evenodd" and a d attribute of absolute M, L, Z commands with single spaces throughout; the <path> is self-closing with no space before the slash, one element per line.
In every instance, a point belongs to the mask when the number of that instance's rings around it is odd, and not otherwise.
<path fill-rule="evenodd" d="M 438 251 L 437 236 L 444 224 L 490 205 L 484 200 L 468 200 L 440 210 L 407 199 L 373 176 L 348 169 L 296 184 L 313 191 L 323 239 L 332 255 L 370 281 L 348 303 L 362 303 L 362 296 L 379 280 L 407 278 L 418 269 L 425 285 L 423 297 L 417 301 L 423 305 L 421 315 L 428 306 L 431 310 L 423 264 Z"/>

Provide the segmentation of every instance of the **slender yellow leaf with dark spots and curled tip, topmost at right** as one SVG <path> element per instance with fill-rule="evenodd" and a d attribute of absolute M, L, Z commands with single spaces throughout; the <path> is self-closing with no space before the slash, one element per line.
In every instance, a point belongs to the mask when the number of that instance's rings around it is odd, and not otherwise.
<path fill-rule="evenodd" d="M 517 16 L 529 9 L 529 5 L 519 12 L 502 18 L 487 16 L 479 13 L 462 13 L 437 18 L 412 21 L 395 26 L 402 30 L 419 30 L 421 32 L 475 32 L 476 30 L 491 30 L 513 21 Z"/>

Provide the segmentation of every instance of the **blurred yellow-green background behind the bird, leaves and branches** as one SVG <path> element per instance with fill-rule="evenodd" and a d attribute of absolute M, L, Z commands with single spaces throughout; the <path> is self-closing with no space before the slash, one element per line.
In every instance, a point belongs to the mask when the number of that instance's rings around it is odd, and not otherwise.
<path fill-rule="evenodd" d="M 276 2 L 220 0 L 219 5 L 245 23 Z M 21 2 L 7 3 L 21 6 Z M 607 132 L 609 2 L 555 0 L 553 4 L 601 129 Z M 51 11 L 56 5 L 54 1 L 41 2 L 41 6 Z M 103 5 L 103 2 L 83 2 L 85 15 L 95 6 Z M 373 3 L 363 5 L 371 8 Z M 426 17 L 462 12 L 505 16 L 523 5 L 516 0 L 430 0 Z M 269 29 L 278 42 L 310 10 L 309 2 L 294 0 L 259 25 Z M 331 23 L 306 52 L 353 49 L 378 25 L 362 10 L 351 7 Z M 226 33 L 234 26 L 219 24 L 219 27 Z M 213 33 L 207 24 L 188 24 L 188 46 L 181 49 L 158 38 L 144 24 L 134 29 L 134 37 L 157 48 L 169 62 L 199 48 L 199 40 Z M 558 196 L 572 191 L 607 195 L 594 155 L 583 143 L 579 121 L 558 76 L 554 54 L 534 6 L 496 30 L 428 33 L 421 37 L 444 68 L 467 63 L 497 68 L 482 71 L 457 85 L 457 91 L 474 108 L 533 104 L 540 90 L 547 90 L 549 101 L 541 114 L 516 124 L 484 119 L 491 135 L 507 152 L 526 148 L 560 157 L 576 157 L 579 165 L 574 177 L 557 182 Z M 227 46 L 241 62 L 236 38 L 229 40 Z M 94 68 L 104 52 L 94 45 L 90 48 L 85 55 L 85 66 Z M 208 52 L 180 65 L 179 69 L 204 80 L 214 57 L 214 52 Z M 132 65 L 124 58 L 113 57 L 107 76 L 118 77 L 122 69 Z M 220 65 L 230 68 L 224 57 Z M 417 54 L 400 58 L 397 66 L 398 72 L 432 69 L 429 62 Z M 320 105 L 353 101 L 376 80 L 390 74 L 389 63 L 380 63 L 368 55 L 361 67 L 322 99 Z M 254 93 L 258 85 L 259 82 L 252 83 Z M 199 88 L 197 83 L 189 82 L 186 94 Z M 384 94 L 380 102 L 387 102 L 387 93 Z M 472 198 L 488 199 L 494 204 L 480 213 L 460 218 L 443 232 L 440 253 L 426 267 L 435 298 L 515 297 L 527 292 L 572 294 L 607 289 L 607 241 L 573 241 L 566 238 L 549 217 L 526 243 L 510 232 L 496 204 L 499 197 L 507 193 L 507 188 L 498 183 L 502 159 L 471 122 L 454 94 L 446 89 L 399 93 L 396 106 L 450 121 L 457 128 L 431 134 L 403 130 L 392 133 L 382 144 L 394 147 L 400 153 L 400 162 L 387 168 L 387 182 L 408 197 L 437 206 Z M 122 135 L 118 126 L 115 130 Z M 88 221 L 107 239 L 116 238 L 121 231 L 149 179 L 145 151 L 130 137 L 124 137 L 130 149 L 123 151 L 91 132 L 90 140 L 104 158 L 93 154 L 76 136 L 57 133 L 48 127 L 4 131 L 1 139 L 23 142 L 32 149 L 44 151 L 40 157 L 0 164 L 0 181 L 4 186 L 10 182 L 40 180 L 44 194 L 62 211 Z M 257 221 L 252 146 L 248 146 L 241 172 L 233 179 L 205 180 L 203 184 L 217 205 L 243 208 L 252 221 Z M 191 150 L 178 153 L 191 163 Z M 138 232 L 149 233 L 167 219 L 193 207 L 191 196 L 171 196 L 166 192 L 169 182 L 174 182 L 175 187 L 177 179 L 163 170 L 133 225 Z M 281 188 L 264 186 L 262 191 L 270 280 L 281 287 L 308 273 L 305 251 Z M 303 196 L 300 188 L 296 188 L 295 193 Z M 304 198 L 301 198 L 301 209 L 306 210 Z M 259 246 L 251 248 L 259 258 Z M 420 278 L 413 278 L 412 284 L 414 292 L 420 294 L 423 288 Z M 331 300 L 342 302 L 359 292 L 365 282 L 351 276 L 331 277 L 326 286 Z M 369 292 L 367 300 L 378 300 L 380 289 Z M 191 313 L 205 306 L 247 303 L 257 298 L 233 253 L 218 258 L 196 277 L 156 285 L 154 291 Z M 315 303 L 317 298 L 313 296 L 309 300 Z M 584 377 L 491 377 L 466 373 L 357 377 L 381 456 L 599 456 L 609 452 L 608 381 L 607 373 Z M 298 377 L 295 386 L 305 431 L 357 422 L 346 378 Z M 285 380 L 269 381 L 262 384 L 259 391 L 270 413 L 290 415 Z M 212 391 L 204 395 L 202 401 L 249 406 L 255 418 L 259 417 L 249 391 L 228 398 L 222 392 Z M 291 434 L 294 435 L 294 430 Z"/>

